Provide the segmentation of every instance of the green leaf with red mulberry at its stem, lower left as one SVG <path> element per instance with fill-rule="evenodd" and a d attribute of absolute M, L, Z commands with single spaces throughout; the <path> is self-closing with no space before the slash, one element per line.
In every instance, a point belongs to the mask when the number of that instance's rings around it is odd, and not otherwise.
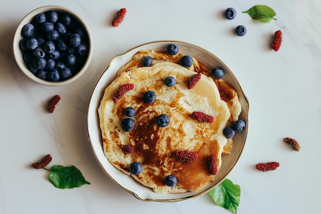
<path fill-rule="evenodd" d="M 59 189 L 72 189 L 90 184 L 75 166 L 53 165 L 50 168 L 49 180 Z"/>

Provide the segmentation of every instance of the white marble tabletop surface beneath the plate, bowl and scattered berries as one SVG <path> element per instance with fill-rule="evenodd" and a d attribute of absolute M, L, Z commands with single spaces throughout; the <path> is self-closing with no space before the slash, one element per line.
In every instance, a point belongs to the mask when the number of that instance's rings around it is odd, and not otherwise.
<path fill-rule="evenodd" d="M 94 40 L 93 61 L 76 82 L 59 87 L 33 83 L 19 71 L 12 38 L 18 22 L 31 10 L 61 5 L 82 15 Z M 241 13 L 266 4 L 277 21 L 262 24 Z M 118 28 L 115 12 L 127 8 Z M 222 13 L 233 7 L 235 20 Z M 242 190 L 238 213 L 319 213 L 321 144 L 321 2 L 286 1 L 16 1 L 0 3 L 0 213 L 232 213 L 216 206 L 208 194 L 175 203 L 142 202 L 115 185 L 99 168 L 87 139 L 89 97 L 113 56 L 154 40 L 180 40 L 217 55 L 237 77 L 250 100 L 245 150 L 229 179 Z M 233 34 L 237 25 L 247 34 Z M 282 30 L 278 52 L 271 36 Z M 45 106 L 62 97 L 54 114 Z M 302 149 L 282 140 L 292 137 Z M 30 168 L 50 153 L 52 163 L 75 165 L 91 185 L 57 189 L 48 172 Z M 258 162 L 280 167 L 258 172 Z"/>

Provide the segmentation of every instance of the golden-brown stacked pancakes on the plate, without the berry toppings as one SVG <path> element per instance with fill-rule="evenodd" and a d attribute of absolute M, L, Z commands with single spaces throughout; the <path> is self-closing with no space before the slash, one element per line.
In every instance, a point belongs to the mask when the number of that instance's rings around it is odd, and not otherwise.
<path fill-rule="evenodd" d="M 142 67 L 144 56 L 151 56 L 150 67 Z M 169 55 L 153 50 L 138 51 L 133 60 L 122 66 L 116 79 L 106 88 L 98 108 L 102 130 L 103 148 L 106 158 L 117 169 L 132 176 L 137 182 L 159 193 L 196 191 L 213 181 L 208 160 L 211 154 L 217 157 L 217 169 L 222 165 L 222 154 L 229 153 L 233 140 L 223 135 L 223 129 L 237 120 L 240 104 L 237 93 L 224 81 L 209 77 L 209 69 L 193 58 L 193 65 L 184 68 L 178 63 L 183 55 Z M 188 81 L 196 73 L 200 80 L 192 89 Z M 165 85 L 167 76 L 173 76 L 176 84 Z M 119 100 L 113 101 L 117 89 L 132 83 Z M 152 90 L 156 93 L 153 103 L 144 103 L 143 94 Z M 134 127 L 123 131 L 121 122 L 127 118 L 126 107 L 133 107 Z M 212 123 L 197 121 L 192 112 L 200 111 L 214 117 Z M 156 118 L 167 114 L 170 123 L 159 127 Z M 124 145 L 131 145 L 134 152 L 124 153 Z M 175 151 L 195 151 L 198 158 L 191 162 L 175 157 Z M 133 162 L 139 162 L 143 171 L 130 173 Z M 177 184 L 169 187 L 165 178 L 173 175 Z"/>

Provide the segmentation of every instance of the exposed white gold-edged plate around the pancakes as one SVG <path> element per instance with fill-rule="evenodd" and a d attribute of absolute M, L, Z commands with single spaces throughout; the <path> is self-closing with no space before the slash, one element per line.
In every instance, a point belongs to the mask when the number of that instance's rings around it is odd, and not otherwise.
<path fill-rule="evenodd" d="M 247 124 L 247 127 L 244 131 L 238 132 L 234 137 L 234 145 L 231 154 L 223 155 L 222 158 L 222 167 L 219 172 L 215 176 L 215 180 L 213 182 L 208 183 L 204 188 L 193 191 L 193 192 L 184 192 L 184 193 L 155 193 L 151 188 L 145 187 L 135 181 L 131 176 L 127 176 L 122 171 L 116 169 L 114 166 L 110 164 L 107 158 L 105 158 L 103 151 L 103 141 L 101 135 L 101 129 L 99 127 L 99 118 L 97 109 L 103 98 L 103 94 L 107 86 L 115 79 L 116 72 L 118 69 L 128 63 L 134 53 L 138 50 L 142 49 L 150 49 L 155 51 L 165 51 L 169 44 L 176 44 L 179 47 L 179 52 L 184 55 L 194 56 L 197 60 L 206 65 L 209 69 L 214 69 L 215 67 L 220 67 L 224 70 L 223 80 L 230 84 L 237 92 L 239 96 L 239 101 L 242 105 L 242 112 L 239 116 L 240 119 L 244 120 Z M 234 168 L 237 163 L 247 137 L 247 132 L 249 128 L 248 121 L 248 112 L 249 112 L 249 102 L 244 94 L 242 88 L 240 87 L 238 81 L 235 76 L 231 72 L 231 70 L 220 61 L 214 54 L 209 51 L 200 48 L 198 46 L 180 42 L 180 41 L 154 41 L 145 43 L 142 45 L 138 45 L 123 54 L 115 56 L 107 69 L 101 77 L 99 77 L 96 85 L 91 94 L 91 98 L 89 100 L 88 111 L 87 111 L 87 128 L 88 128 L 88 139 L 92 148 L 92 151 L 95 155 L 96 161 L 101 166 L 103 171 L 107 174 L 107 176 L 114 181 L 119 187 L 125 189 L 135 196 L 137 199 L 142 201 L 160 201 L 160 202 L 174 202 L 174 201 L 182 201 L 185 199 L 194 198 L 204 194 L 215 186 L 217 186 L 220 182 L 224 181 L 224 179 L 228 176 L 231 170 Z M 107 192 L 106 192 L 107 193 Z"/>

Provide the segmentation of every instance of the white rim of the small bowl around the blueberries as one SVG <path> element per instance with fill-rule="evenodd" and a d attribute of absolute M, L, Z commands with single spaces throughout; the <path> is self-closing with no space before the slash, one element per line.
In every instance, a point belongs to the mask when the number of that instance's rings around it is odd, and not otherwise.
<path fill-rule="evenodd" d="M 50 11 L 50 10 L 59 11 L 59 12 L 66 12 L 66 13 L 72 15 L 81 25 L 83 25 L 83 27 L 85 28 L 85 30 L 87 32 L 87 35 L 88 35 L 89 51 L 88 51 L 88 56 L 87 56 L 86 63 L 83 65 L 82 69 L 79 70 L 70 79 L 67 79 L 67 80 L 64 80 L 64 81 L 59 81 L 59 82 L 45 81 L 45 80 L 42 80 L 42 79 L 38 78 L 37 76 L 35 76 L 27 68 L 27 66 L 26 66 L 26 64 L 25 64 L 25 62 L 23 60 L 22 51 L 19 48 L 19 41 L 23 38 L 23 36 L 21 35 L 21 31 L 22 31 L 22 28 L 24 27 L 24 25 L 26 25 L 27 23 L 30 23 L 35 15 L 37 15 L 39 13 L 42 13 L 42 12 Z M 30 11 L 18 23 L 16 31 L 15 31 L 14 36 L 13 36 L 13 55 L 14 55 L 15 62 L 18 65 L 19 69 L 30 80 L 32 80 L 33 82 L 36 82 L 36 83 L 39 83 L 39 84 L 42 84 L 42 85 L 46 85 L 46 86 L 61 86 L 61 85 L 65 85 L 65 84 L 68 84 L 68 83 L 71 83 L 71 82 L 75 81 L 82 74 L 84 74 L 85 71 L 88 69 L 90 61 L 91 61 L 91 57 L 92 57 L 92 48 L 93 48 L 93 44 L 92 43 L 93 43 L 93 41 L 92 41 L 91 33 L 89 31 L 89 27 L 88 27 L 87 23 L 84 21 L 84 19 L 81 16 L 79 16 L 77 13 L 75 13 L 71 9 L 68 9 L 66 7 L 63 7 L 63 6 L 47 5 L 47 6 L 38 7 L 36 9 Z"/>

